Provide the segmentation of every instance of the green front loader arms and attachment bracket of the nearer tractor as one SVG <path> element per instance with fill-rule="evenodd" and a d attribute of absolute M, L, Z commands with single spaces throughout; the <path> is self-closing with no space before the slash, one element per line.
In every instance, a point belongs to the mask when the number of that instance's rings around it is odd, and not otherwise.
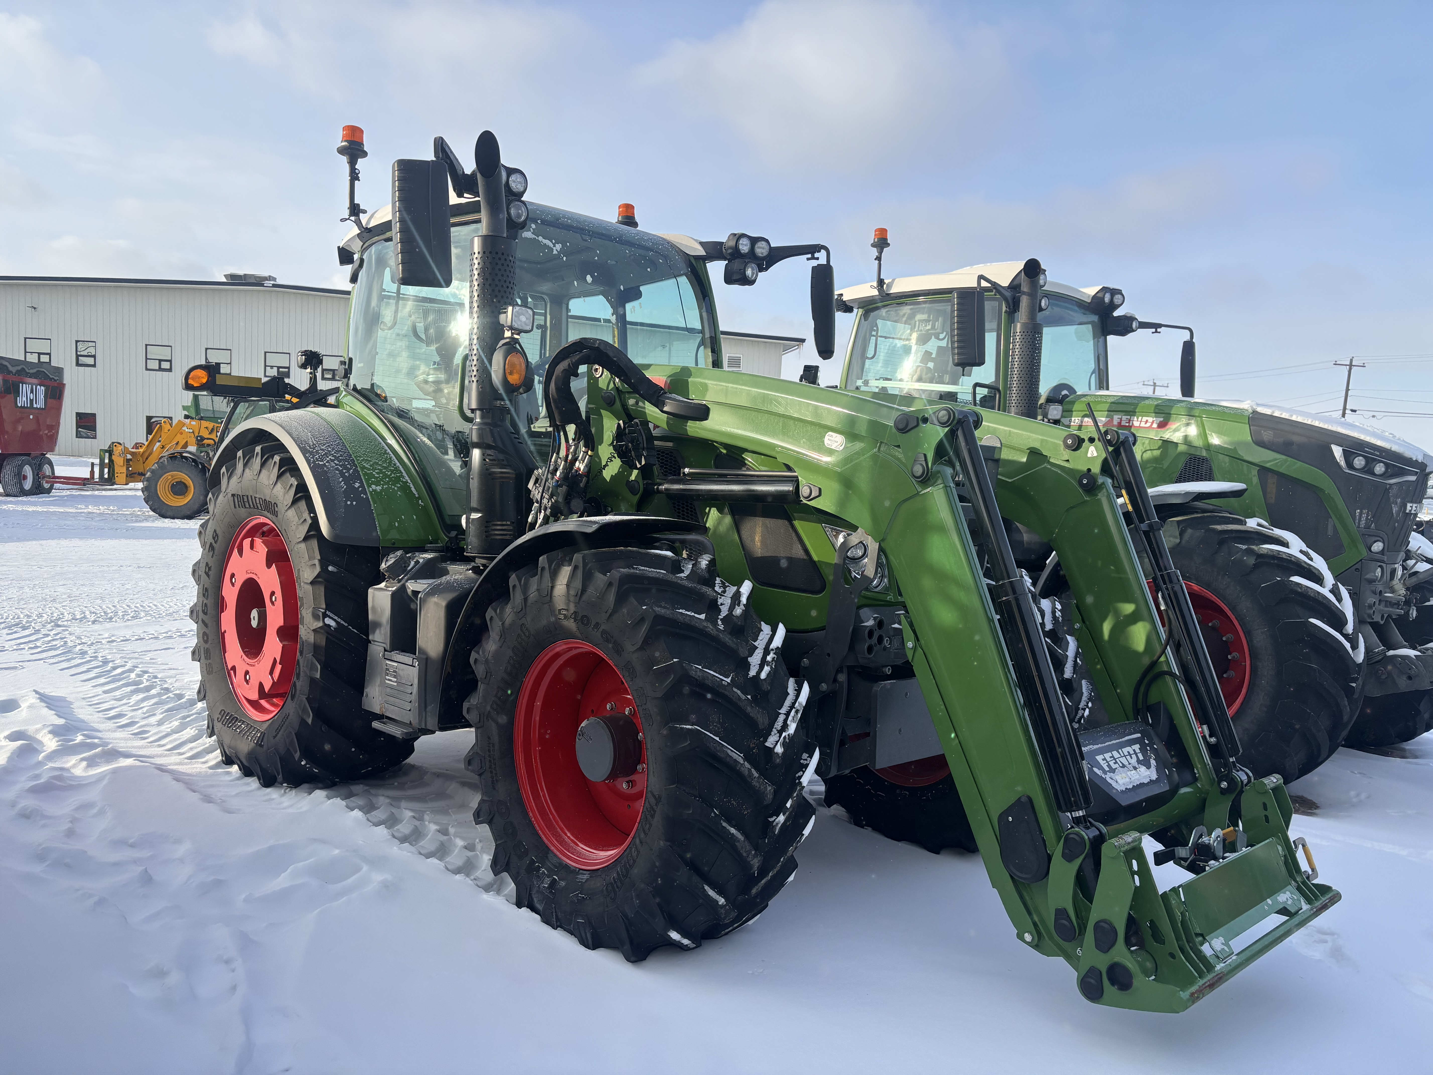
<path fill-rule="evenodd" d="M 1165 826 L 1188 831 L 1202 824 L 1211 831 L 1230 824 L 1231 797 L 1217 787 L 1204 741 L 1178 685 L 1159 678 L 1152 699 L 1165 702 L 1188 752 L 1195 783 L 1159 810 L 1112 827 L 1102 849 L 1101 882 L 1091 902 L 1076 883 L 1079 860 L 1065 863 L 1058 854 L 1063 820 L 1045 778 L 1036 740 L 1006 652 L 977 556 L 957 500 L 959 467 L 949 449 L 947 431 L 926 421 L 906 434 L 893 420 L 903 410 L 873 394 L 792 384 L 751 374 L 692 367 L 651 367 L 672 391 L 704 400 L 712 408 L 708 421 L 669 419 L 622 391 L 610 377 L 589 386 L 588 401 L 599 443 L 589 493 L 613 512 L 672 515 L 661 496 L 639 496 L 628 482 L 639 477 L 610 449 L 619 421 L 639 419 L 658 427 L 661 443 L 681 452 L 686 466 L 712 467 L 716 456 L 735 456 L 744 466 L 794 470 L 802 483 L 821 487 L 813 502 L 790 509 L 797 530 L 830 585 L 834 548 L 823 523 L 840 529 L 866 529 L 881 543 L 891 582 L 886 593 L 867 595 L 863 603 L 898 603 L 909 656 L 931 712 L 937 735 L 966 806 L 992 886 L 1027 946 L 1063 957 L 1083 972 L 1096 957 L 1088 930 L 1099 909 L 1119 913 L 1132 909 L 1155 922 L 1166 945 L 1158 956 L 1138 959 L 1155 965 L 1154 978 L 1136 975 L 1128 992 L 1109 988 L 1101 1003 L 1142 1010 L 1178 1012 L 1300 929 L 1337 900 L 1326 886 L 1304 882 L 1288 843 L 1288 818 L 1262 814 L 1251 828 L 1250 796 L 1273 803 L 1271 781 L 1257 781 L 1245 793 L 1245 830 L 1250 850 L 1234 856 L 1182 892 L 1161 896 L 1145 859 L 1142 837 Z M 615 403 L 600 403 L 602 390 Z M 909 410 L 927 414 L 934 403 L 906 398 Z M 1091 466 L 1083 450 L 1069 453 L 1066 430 L 982 411 L 982 437 L 1002 441 L 997 499 L 1002 515 L 1030 527 L 1060 555 L 1070 579 L 1078 635 L 1096 685 L 1115 720 L 1131 718 L 1132 692 L 1139 674 L 1155 658 L 1164 634 L 1144 583 L 1134 546 L 1109 482 L 1101 477 L 1086 494 L 1078 479 Z M 911 477 L 911 463 L 921 453 L 931 463 L 924 482 Z M 731 466 L 728 462 L 727 466 Z M 727 505 L 702 503 L 718 569 L 737 582 L 751 579 L 737 529 Z M 788 632 L 824 626 L 828 592 L 794 593 L 754 582 L 751 601 L 764 619 L 784 622 Z M 1278 791 L 1283 787 L 1273 781 Z M 1050 874 L 1036 884 L 1015 880 L 1000 859 L 996 814 L 1020 796 L 1029 796 L 1052 853 Z M 1287 798 L 1287 796 L 1285 796 Z M 1250 866 L 1241 866 L 1244 859 Z M 1232 867 L 1232 869 L 1231 869 Z M 1275 870 L 1277 867 L 1277 870 Z M 1139 884 L 1134 877 L 1139 876 Z M 1225 880 L 1230 882 L 1225 884 Z M 1275 884 L 1277 882 L 1277 884 Z M 1297 893 L 1297 903 L 1290 893 Z M 1265 917 L 1268 900 L 1287 900 L 1270 913 L 1285 920 L 1258 942 L 1222 959 L 1208 956 L 1208 937 L 1222 939 L 1250 916 Z M 1172 903 L 1166 902 L 1172 900 Z M 1053 932 L 1056 909 L 1066 909 L 1082 936 L 1060 942 Z M 1171 910 L 1171 907 L 1174 910 Z M 1295 909 L 1297 907 L 1297 909 Z M 1122 909 L 1122 910 L 1121 910 Z M 1162 923 L 1162 924 L 1161 924 Z M 1092 955 L 1093 953 L 1093 955 Z M 1115 955 L 1135 960 L 1119 949 Z"/>

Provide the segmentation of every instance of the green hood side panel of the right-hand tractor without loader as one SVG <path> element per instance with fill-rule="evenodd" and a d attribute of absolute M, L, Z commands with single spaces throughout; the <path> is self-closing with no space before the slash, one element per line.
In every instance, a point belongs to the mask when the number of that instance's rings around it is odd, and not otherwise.
<path fill-rule="evenodd" d="M 1066 424 L 1089 421 L 1085 404 L 1095 408 L 1101 420 L 1128 416 L 1129 429 L 1138 441 L 1139 466 L 1151 486 L 1169 484 L 1184 464 L 1188 452 L 1208 457 L 1217 482 L 1242 482 L 1248 492 L 1235 499 L 1211 500 L 1244 517 L 1268 519 L 1260 469 L 1278 472 L 1313 487 L 1334 520 L 1344 553 L 1328 559 L 1328 568 L 1340 575 L 1364 558 L 1363 538 L 1343 496 L 1328 476 L 1297 459 L 1270 452 L 1254 443 L 1250 433 L 1252 407 L 1204 400 L 1178 400 L 1158 396 L 1116 396 L 1088 393 L 1072 396 L 1065 403 Z M 1079 426 L 1075 426 L 1079 429 Z"/>

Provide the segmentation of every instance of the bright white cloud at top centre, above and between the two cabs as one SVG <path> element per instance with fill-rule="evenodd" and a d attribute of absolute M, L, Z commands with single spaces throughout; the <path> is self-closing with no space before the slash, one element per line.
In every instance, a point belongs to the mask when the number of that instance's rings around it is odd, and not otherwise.
<path fill-rule="evenodd" d="M 752 163 L 873 182 L 982 149 L 987 109 L 1017 95 L 996 30 L 953 37 L 926 7 L 867 0 L 768 0 L 731 30 L 674 42 L 636 82 L 727 128 Z"/>

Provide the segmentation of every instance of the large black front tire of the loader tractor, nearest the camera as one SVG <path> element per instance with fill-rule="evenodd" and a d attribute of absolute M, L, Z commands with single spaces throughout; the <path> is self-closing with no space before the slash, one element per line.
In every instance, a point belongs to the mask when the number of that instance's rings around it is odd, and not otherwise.
<path fill-rule="evenodd" d="M 663 946 L 696 947 L 751 922 L 795 873 L 814 823 L 801 783 L 813 755 L 801 721 L 808 688 L 787 674 L 775 645 L 784 632 L 755 616 L 747 593 L 749 585 L 718 579 L 706 555 L 567 549 L 517 570 L 487 612 L 464 704 L 474 725 L 467 767 L 481 791 L 473 817 L 489 827 L 493 874 L 509 876 L 517 906 L 589 949 L 638 962 Z M 616 857 L 589 867 L 542 834 L 552 814 L 535 793 L 535 820 L 519 775 L 537 752 L 517 742 L 535 714 L 550 711 L 527 684 L 543 682 L 552 654 L 583 646 L 625 682 L 646 765 L 628 843 L 619 834 L 606 851 Z M 586 698 L 570 714 L 580 717 Z M 595 803 L 612 783 L 572 774 L 539 781 L 542 794 L 560 784 L 560 794 Z"/>

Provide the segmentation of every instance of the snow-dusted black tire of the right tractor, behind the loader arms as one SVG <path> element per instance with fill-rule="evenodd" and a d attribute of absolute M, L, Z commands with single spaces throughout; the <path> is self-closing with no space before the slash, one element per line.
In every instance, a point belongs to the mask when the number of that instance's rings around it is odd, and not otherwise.
<path fill-rule="evenodd" d="M 1331 582 L 1327 566 L 1297 538 L 1232 513 L 1168 517 L 1165 540 L 1185 582 L 1217 598 L 1248 642 L 1248 691 L 1234 714 L 1240 761 L 1284 783 L 1311 773 L 1358 715 L 1363 652 L 1347 593 L 1333 582 L 1341 603 L 1321 589 Z M 1205 635 L 1215 671 L 1224 631 Z"/>

